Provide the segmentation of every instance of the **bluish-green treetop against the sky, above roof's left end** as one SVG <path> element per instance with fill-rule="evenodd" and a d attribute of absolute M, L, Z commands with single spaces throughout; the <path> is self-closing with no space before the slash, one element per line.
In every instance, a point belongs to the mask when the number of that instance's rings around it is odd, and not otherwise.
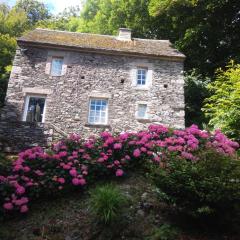
<path fill-rule="evenodd" d="M 49 19 L 51 16 L 44 3 L 37 0 L 18 0 L 15 9 L 26 13 L 31 26 L 34 26 L 38 21 Z"/>

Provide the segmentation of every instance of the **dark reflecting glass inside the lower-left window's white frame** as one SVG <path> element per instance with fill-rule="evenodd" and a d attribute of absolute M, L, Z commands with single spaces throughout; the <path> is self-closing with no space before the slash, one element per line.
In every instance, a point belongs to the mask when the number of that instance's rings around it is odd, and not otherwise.
<path fill-rule="evenodd" d="M 27 109 L 27 122 L 42 122 L 45 107 L 45 99 L 30 97 Z"/>

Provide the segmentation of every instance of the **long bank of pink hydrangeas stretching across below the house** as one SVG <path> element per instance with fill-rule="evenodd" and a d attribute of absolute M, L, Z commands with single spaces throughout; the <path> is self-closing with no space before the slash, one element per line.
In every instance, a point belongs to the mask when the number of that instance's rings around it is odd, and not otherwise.
<path fill-rule="evenodd" d="M 176 157 L 198 161 L 200 150 L 213 148 L 233 155 L 238 147 L 219 130 L 210 134 L 196 125 L 185 130 L 151 125 L 146 131 L 102 132 L 87 140 L 71 135 L 47 151 L 34 147 L 19 153 L 11 174 L 0 176 L 0 204 L 6 212 L 26 213 L 34 198 L 82 189 L 91 179 L 103 176 L 122 177 L 147 161 L 165 164 Z"/>

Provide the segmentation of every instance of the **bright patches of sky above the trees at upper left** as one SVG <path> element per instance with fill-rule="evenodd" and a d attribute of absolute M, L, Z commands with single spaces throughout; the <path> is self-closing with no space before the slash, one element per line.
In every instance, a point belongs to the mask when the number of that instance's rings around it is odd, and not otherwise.
<path fill-rule="evenodd" d="M 13 6 L 17 0 L 0 0 L 1 2 L 7 3 L 10 6 Z M 63 11 L 67 7 L 79 6 L 81 0 L 39 0 L 39 2 L 45 3 L 49 10 L 56 14 Z"/>

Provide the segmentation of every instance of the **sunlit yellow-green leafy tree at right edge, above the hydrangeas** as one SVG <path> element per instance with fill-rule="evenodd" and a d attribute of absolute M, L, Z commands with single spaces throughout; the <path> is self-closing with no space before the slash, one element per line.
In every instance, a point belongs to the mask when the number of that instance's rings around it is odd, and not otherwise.
<path fill-rule="evenodd" d="M 220 128 L 229 137 L 240 140 L 240 64 L 230 64 L 226 71 L 218 69 L 216 80 L 208 85 L 212 95 L 203 111 L 213 128 Z"/>

